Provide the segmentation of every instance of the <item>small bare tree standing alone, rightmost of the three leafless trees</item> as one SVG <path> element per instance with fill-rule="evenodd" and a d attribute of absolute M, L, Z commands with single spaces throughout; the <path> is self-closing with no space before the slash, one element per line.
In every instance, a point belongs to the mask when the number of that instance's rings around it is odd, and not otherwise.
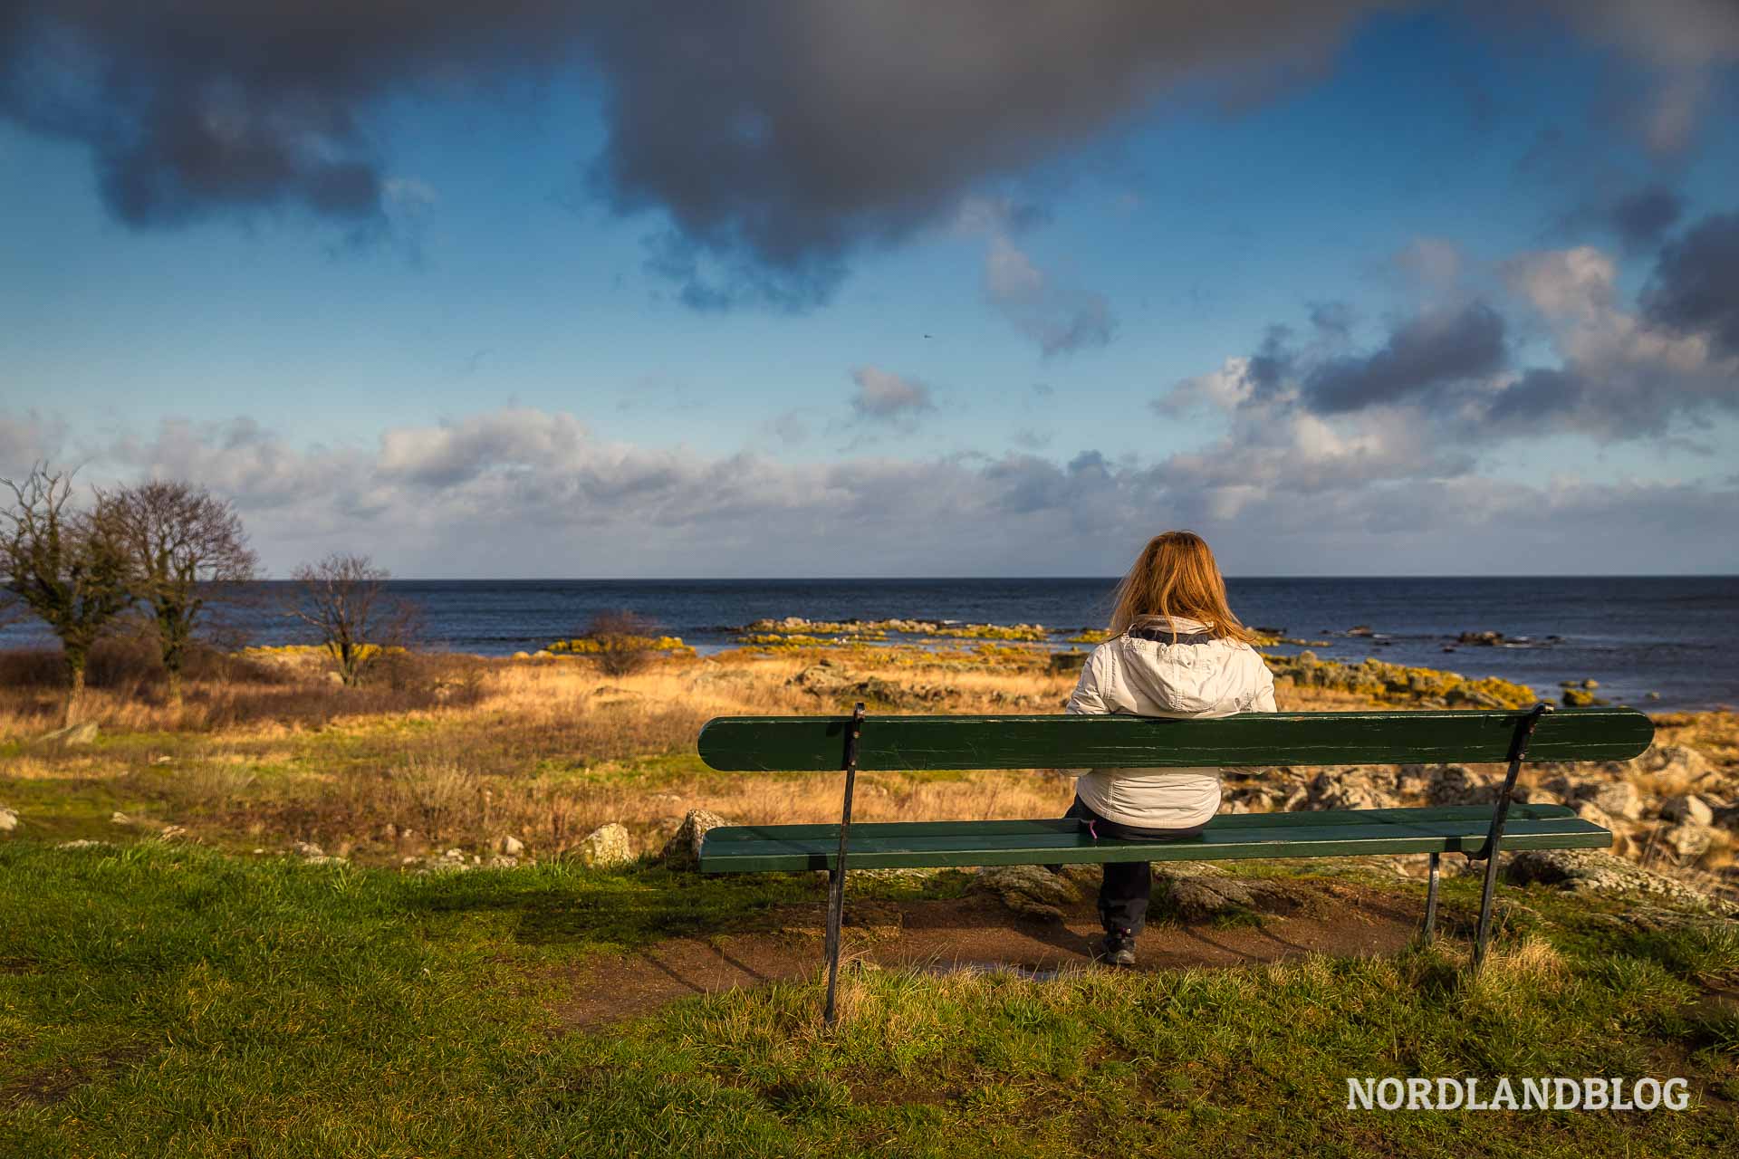
<path fill-rule="evenodd" d="M 409 645 L 416 608 L 386 593 L 391 573 L 369 556 L 334 553 L 304 563 L 290 579 L 296 594 L 289 613 L 320 632 L 346 685 L 362 683 L 388 648 Z"/>

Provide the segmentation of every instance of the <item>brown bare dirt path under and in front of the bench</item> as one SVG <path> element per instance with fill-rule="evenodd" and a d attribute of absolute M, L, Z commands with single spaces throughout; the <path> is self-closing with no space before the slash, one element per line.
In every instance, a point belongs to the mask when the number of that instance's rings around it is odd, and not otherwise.
<path fill-rule="evenodd" d="M 1419 928 L 1407 898 L 1344 884 L 1327 905 L 1268 916 L 1252 926 L 1160 924 L 1137 942 L 1137 970 L 1240 966 L 1303 954 L 1393 954 Z M 558 1008 L 570 1027 L 652 1013 L 694 994 L 807 978 L 823 964 L 821 905 L 788 907 L 781 928 L 713 938 L 671 938 L 633 954 L 598 959 L 574 977 L 570 999 Z M 986 898 L 948 902 L 871 902 L 847 907 L 845 956 L 878 966 L 923 970 L 1016 970 L 1036 977 L 1090 964 L 1099 937 L 1090 902 L 1063 923 L 1009 914 Z"/>

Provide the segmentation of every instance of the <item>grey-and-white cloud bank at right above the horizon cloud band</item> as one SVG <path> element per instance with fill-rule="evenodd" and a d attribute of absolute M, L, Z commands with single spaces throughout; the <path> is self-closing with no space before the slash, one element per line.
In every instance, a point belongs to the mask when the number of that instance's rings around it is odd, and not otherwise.
<path fill-rule="evenodd" d="M 1485 301 L 1400 318 L 1377 349 L 1358 354 L 1343 353 L 1349 325 L 1313 309 L 1309 342 L 1271 325 L 1256 353 L 1176 382 L 1153 408 L 1226 415 L 1242 434 L 1214 455 L 1229 471 L 1256 469 L 1240 459 L 1245 447 L 1275 450 L 1264 426 L 1303 438 L 1311 427 L 1297 426 L 1301 414 L 1334 424 L 1316 433 L 1320 445 L 1329 434 L 1367 438 L 1360 454 L 1372 471 L 1388 460 L 1369 436 L 1389 419 L 1423 441 L 1395 443 L 1391 431 L 1384 443 L 1421 462 L 1539 434 L 1652 438 L 1708 454 L 1685 433 L 1739 412 L 1734 269 L 1739 215 L 1709 217 L 1669 245 L 1640 309 L 1619 301 L 1617 262 L 1596 247 L 1520 254 L 1497 269 L 1515 297 L 1508 306 L 1520 308 L 1523 334 L 1544 335 L 1555 363 L 1513 365 L 1511 323 Z"/>

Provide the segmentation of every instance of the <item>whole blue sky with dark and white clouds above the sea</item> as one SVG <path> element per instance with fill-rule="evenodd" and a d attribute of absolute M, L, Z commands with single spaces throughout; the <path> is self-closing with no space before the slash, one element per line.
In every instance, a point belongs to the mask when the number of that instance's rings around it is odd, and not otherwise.
<path fill-rule="evenodd" d="M 1736 115 L 1730 0 L 0 0 L 0 476 L 273 575 L 1734 573 Z"/>

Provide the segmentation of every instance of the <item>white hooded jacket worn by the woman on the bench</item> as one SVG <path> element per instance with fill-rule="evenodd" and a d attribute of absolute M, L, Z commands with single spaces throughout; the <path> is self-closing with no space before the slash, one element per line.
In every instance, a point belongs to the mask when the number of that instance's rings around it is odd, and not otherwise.
<path fill-rule="evenodd" d="M 1176 619 L 1179 636 L 1207 626 Z M 1141 627 L 1165 629 L 1163 620 Z M 1209 718 L 1273 712 L 1275 678 L 1263 657 L 1235 639 L 1163 643 L 1115 636 L 1087 657 L 1069 712 Z M 1217 768 L 1094 768 L 1075 780 L 1099 817 L 1137 829 L 1200 825 L 1219 808 Z"/>

